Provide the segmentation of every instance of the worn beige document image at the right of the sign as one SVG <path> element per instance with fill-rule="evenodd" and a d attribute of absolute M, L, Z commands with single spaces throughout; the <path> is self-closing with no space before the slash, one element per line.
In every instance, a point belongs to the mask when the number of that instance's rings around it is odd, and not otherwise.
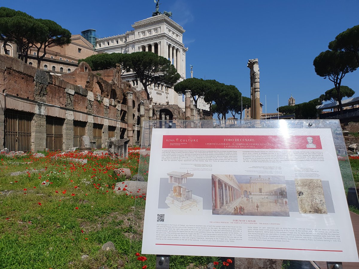
<path fill-rule="evenodd" d="M 295 179 L 299 213 L 327 214 L 322 181 L 320 179 Z"/>

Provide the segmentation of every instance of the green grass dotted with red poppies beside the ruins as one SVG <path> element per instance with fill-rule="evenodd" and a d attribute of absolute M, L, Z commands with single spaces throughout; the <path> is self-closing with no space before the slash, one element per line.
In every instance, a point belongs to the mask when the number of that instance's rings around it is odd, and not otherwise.
<path fill-rule="evenodd" d="M 45 154 L 1 156 L 0 267 L 154 268 L 155 255 L 147 255 L 145 261 L 136 256 L 141 253 L 145 195 L 115 189 L 124 178 L 113 172 L 127 167 L 132 175 L 139 170 L 146 179 L 148 157 L 139 169 L 139 152 L 118 161 L 78 152 L 57 159 L 55 152 Z M 68 157 L 87 159 L 87 164 Z M 17 171 L 24 173 L 11 175 Z M 108 241 L 116 250 L 101 250 Z M 171 256 L 171 268 L 216 259 Z"/>

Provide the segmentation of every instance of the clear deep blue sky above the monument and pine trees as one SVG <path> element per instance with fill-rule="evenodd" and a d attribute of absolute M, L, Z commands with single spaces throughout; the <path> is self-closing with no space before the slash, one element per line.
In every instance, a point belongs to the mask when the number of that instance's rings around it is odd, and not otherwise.
<path fill-rule="evenodd" d="M 250 96 L 248 59 L 258 58 L 260 96 L 267 112 L 287 105 L 290 94 L 302 103 L 334 87 L 314 72 L 313 60 L 337 34 L 359 24 L 358 0 L 315 1 L 204 1 L 160 0 L 160 11 L 172 11 L 186 30 L 194 76 L 237 86 Z M 35 18 L 51 19 L 72 34 L 96 29 L 99 37 L 123 34 L 131 24 L 151 16 L 153 0 L 39 1 L 12 0 L 6 7 Z M 347 85 L 359 96 L 359 70 L 347 74 Z M 263 107 L 265 112 L 265 107 Z"/>

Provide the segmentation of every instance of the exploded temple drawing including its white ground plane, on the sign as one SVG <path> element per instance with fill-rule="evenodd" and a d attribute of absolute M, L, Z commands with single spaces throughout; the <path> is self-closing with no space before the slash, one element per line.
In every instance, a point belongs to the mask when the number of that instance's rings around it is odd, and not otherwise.
<path fill-rule="evenodd" d="M 202 214 L 202 197 L 192 194 L 191 189 L 183 186 L 187 183 L 187 178 L 193 177 L 194 174 L 188 173 L 188 171 L 172 171 L 167 175 L 168 183 L 174 184 L 166 197 L 169 210 L 176 214 Z"/>

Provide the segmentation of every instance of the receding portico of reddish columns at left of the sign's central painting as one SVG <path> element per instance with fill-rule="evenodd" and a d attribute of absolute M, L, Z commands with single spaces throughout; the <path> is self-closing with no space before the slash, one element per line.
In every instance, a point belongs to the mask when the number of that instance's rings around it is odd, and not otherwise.
<path fill-rule="evenodd" d="M 227 208 L 237 199 L 241 198 L 241 190 L 223 179 L 219 179 L 217 176 L 212 175 L 212 200 L 214 200 L 214 211 L 220 211 L 221 208 Z M 222 202 L 220 201 L 222 197 Z"/>

